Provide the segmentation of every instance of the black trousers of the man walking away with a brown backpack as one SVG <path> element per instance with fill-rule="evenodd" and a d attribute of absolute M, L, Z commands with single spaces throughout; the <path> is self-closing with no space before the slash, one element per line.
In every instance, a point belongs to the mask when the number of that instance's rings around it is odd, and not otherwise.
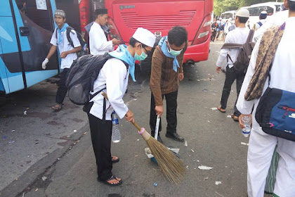
<path fill-rule="evenodd" d="M 233 82 L 237 82 L 237 98 L 239 98 L 239 94 L 241 91 L 241 87 L 244 81 L 245 75 L 243 73 L 237 73 L 235 72 L 235 68 L 229 68 L 226 67 L 226 73 L 225 73 L 225 82 L 223 86 L 222 96 L 221 96 L 221 108 L 225 109 L 228 103 L 228 96 L 230 96 L 230 90 L 232 89 Z M 237 99 L 235 101 L 234 106 L 234 115 L 240 116 L 241 113 L 239 110 L 237 110 Z"/>

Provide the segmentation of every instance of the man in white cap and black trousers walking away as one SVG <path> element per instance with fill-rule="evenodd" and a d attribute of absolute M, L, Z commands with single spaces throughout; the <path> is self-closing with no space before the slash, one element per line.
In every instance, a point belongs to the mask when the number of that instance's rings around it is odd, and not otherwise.
<path fill-rule="evenodd" d="M 249 18 L 249 11 L 247 9 L 240 9 L 237 11 L 237 16 L 235 18 L 235 25 L 237 26 L 235 30 L 228 32 L 228 35 L 225 37 L 225 43 L 235 43 L 235 44 L 244 44 L 247 40 L 249 34 L 249 28 L 246 27 L 246 22 Z M 223 61 L 227 59 L 227 67 L 225 73 L 225 82 L 223 86 L 223 92 L 221 96 L 221 106 L 218 106 L 218 110 L 222 113 L 225 113 L 226 106 L 228 103 L 228 96 L 230 96 L 230 90 L 233 82 L 237 82 L 237 96 L 240 94 L 240 89 L 244 81 L 244 74 L 235 72 L 233 68 L 233 63 L 237 60 L 237 55 L 239 54 L 240 49 L 221 49 L 219 53 L 218 60 L 216 62 L 216 72 L 221 72 L 221 66 Z M 230 56 L 230 58 L 228 58 Z M 232 113 L 232 119 L 239 121 L 240 112 L 237 110 L 236 105 L 234 106 L 234 113 Z"/>

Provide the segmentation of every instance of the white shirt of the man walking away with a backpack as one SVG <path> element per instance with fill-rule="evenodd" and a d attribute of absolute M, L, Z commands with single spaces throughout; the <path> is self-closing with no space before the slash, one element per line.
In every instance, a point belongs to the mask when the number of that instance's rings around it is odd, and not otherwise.
<path fill-rule="evenodd" d="M 228 32 L 227 36 L 225 37 L 224 43 L 236 43 L 236 44 L 244 44 L 247 41 L 247 37 L 250 30 L 247 27 L 239 28 L 236 27 L 235 30 Z M 218 59 L 216 61 L 216 65 L 221 67 L 223 65 L 223 61 L 225 61 L 226 56 L 230 55 L 228 58 L 228 67 L 232 68 L 233 63 L 237 60 L 237 55 L 239 54 L 240 49 L 221 49 L 219 53 Z M 232 63 L 233 62 L 233 63 Z"/>

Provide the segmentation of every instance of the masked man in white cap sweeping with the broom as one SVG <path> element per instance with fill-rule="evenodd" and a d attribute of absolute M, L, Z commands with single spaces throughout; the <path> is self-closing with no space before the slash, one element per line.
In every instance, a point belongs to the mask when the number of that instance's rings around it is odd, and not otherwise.
<path fill-rule="evenodd" d="M 143 28 L 138 28 L 129 41 L 129 46 L 121 44 L 116 51 L 109 53 L 110 58 L 100 70 L 98 78 L 94 82 L 93 92 L 95 94 L 103 90 L 107 94 L 105 101 L 105 121 L 103 121 L 104 97 L 98 94 L 91 99 L 86 108 L 90 108 L 88 117 L 91 130 L 91 141 L 93 151 L 96 155 L 98 169 L 98 181 L 110 186 L 122 184 L 122 179 L 112 174 L 112 163 L 119 158 L 111 156 L 112 120 L 111 113 L 115 111 L 119 118 L 125 117 L 127 121 L 133 122 L 133 113 L 123 101 L 127 89 L 129 74 L 135 81 L 135 61 L 143 61 L 147 52 L 152 50 L 155 44 L 155 35 Z M 91 106 L 92 105 L 92 106 Z"/>

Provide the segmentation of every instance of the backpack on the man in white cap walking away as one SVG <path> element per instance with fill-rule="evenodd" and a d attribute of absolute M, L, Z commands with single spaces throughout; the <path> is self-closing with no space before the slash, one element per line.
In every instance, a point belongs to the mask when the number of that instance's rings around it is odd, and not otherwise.
<path fill-rule="evenodd" d="M 225 43 L 221 49 L 240 49 L 237 55 L 237 61 L 235 63 L 232 61 L 230 55 L 227 58 L 230 58 L 230 61 L 233 63 L 233 67 L 237 73 L 246 73 L 247 68 L 250 62 L 251 53 L 254 48 L 254 43 L 251 42 L 254 36 L 254 30 L 250 30 L 247 41 L 244 44 L 235 44 L 235 43 Z"/>

